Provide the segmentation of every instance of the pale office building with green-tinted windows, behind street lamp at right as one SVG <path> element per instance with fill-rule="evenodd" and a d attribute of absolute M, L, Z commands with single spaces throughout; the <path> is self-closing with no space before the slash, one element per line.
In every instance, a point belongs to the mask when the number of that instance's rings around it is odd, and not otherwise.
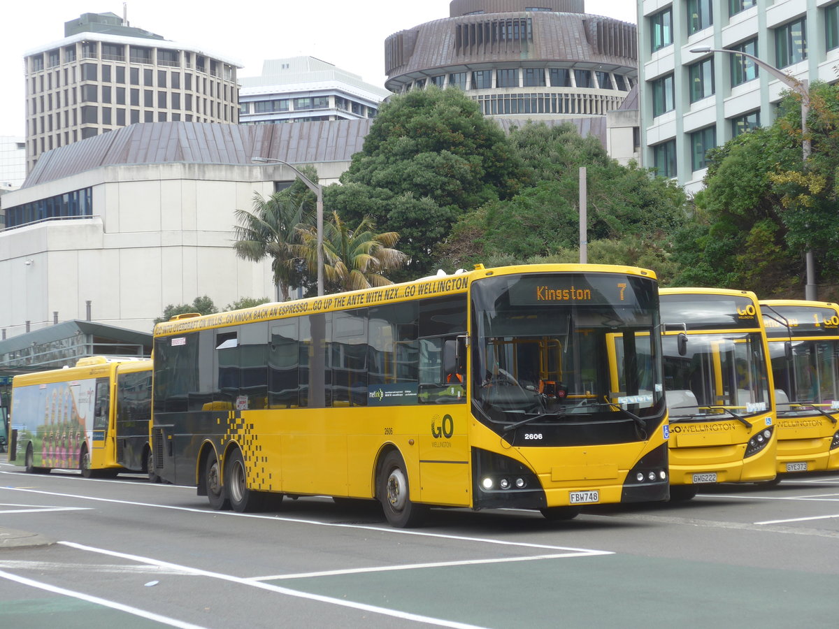
<path fill-rule="evenodd" d="M 706 151 L 774 122 L 787 89 L 739 50 L 798 81 L 839 80 L 837 0 L 639 0 L 644 164 L 700 190 Z"/>

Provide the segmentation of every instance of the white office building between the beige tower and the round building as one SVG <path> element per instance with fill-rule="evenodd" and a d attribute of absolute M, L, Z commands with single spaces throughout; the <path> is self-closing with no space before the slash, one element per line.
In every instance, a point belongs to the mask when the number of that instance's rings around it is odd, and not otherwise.
<path fill-rule="evenodd" d="M 262 75 L 239 83 L 241 124 L 372 118 L 390 95 L 315 57 L 266 60 Z"/>

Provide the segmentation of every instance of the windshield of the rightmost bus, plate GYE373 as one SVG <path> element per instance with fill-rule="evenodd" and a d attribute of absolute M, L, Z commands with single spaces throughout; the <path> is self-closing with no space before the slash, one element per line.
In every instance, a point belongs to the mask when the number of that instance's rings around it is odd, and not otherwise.
<path fill-rule="evenodd" d="M 791 360 L 786 346 L 792 346 Z M 778 412 L 809 413 L 793 403 L 839 401 L 839 340 L 793 340 L 769 343 Z"/>

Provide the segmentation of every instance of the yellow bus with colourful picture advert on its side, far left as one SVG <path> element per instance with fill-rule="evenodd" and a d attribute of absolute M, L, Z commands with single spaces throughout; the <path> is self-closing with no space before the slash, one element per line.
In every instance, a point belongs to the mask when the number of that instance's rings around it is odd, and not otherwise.
<path fill-rule="evenodd" d="M 15 376 L 9 460 L 30 473 L 81 470 L 86 478 L 149 472 L 151 381 L 152 361 L 124 356 Z"/>

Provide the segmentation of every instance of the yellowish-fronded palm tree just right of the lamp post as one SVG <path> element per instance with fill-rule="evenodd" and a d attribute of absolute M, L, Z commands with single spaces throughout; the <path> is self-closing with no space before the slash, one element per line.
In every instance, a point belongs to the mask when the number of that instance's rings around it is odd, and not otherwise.
<path fill-rule="evenodd" d="M 336 291 L 369 289 L 392 284 L 384 273 L 400 268 L 408 260 L 403 252 L 393 249 L 399 241 L 395 231 L 376 233 L 373 219 L 365 216 L 355 229 L 332 212 L 324 223 L 323 259 L 326 282 Z M 315 268 L 317 234 L 301 231 L 306 264 Z"/>

